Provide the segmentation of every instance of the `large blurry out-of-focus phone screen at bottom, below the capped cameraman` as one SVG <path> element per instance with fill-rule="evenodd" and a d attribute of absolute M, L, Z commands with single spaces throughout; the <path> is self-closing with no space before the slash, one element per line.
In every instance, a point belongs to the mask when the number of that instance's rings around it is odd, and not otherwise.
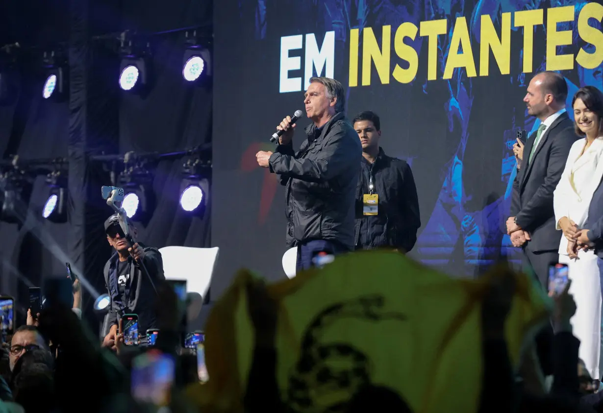
<path fill-rule="evenodd" d="M 137 402 L 163 407 L 169 405 L 174 383 L 172 356 L 157 350 L 136 356 L 132 361 L 132 397 Z"/>

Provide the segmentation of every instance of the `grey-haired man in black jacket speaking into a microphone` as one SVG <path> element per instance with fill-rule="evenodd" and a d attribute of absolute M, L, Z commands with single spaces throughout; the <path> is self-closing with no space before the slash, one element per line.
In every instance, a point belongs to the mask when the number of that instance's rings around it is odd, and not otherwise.
<path fill-rule="evenodd" d="M 310 79 L 305 93 L 306 139 L 293 150 L 295 123 L 287 116 L 273 152 L 259 151 L 257 163 L 286 186 L 287 245 L 297 246 L 297 271 L 307 270 L 321 253 L 352 251 L 354 207 L 362 147 L 344 115 L 345 91 L 327 77 Z"/>

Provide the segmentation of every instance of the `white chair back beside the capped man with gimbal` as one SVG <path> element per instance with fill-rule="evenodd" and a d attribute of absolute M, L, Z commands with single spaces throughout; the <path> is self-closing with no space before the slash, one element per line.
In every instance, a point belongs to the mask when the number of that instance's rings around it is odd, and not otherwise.
<path fill-rule="evenodd" d="M 163 247 L 159 252 L 166 280 L 186 280 L 187 292 L 206 296 L 218 259 L 218 247 Z"/>

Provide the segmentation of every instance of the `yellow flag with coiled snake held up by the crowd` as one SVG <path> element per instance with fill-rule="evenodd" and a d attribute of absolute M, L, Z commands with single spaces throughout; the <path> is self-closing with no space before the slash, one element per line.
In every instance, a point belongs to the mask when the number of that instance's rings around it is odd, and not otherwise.
<path fill-rule="evenodd" d="M 268 287 L 279 303 L 277 382 L 292 411 L 323 412 L 372 384 L 414 412 L 476 412 L 481 392 L 481 301 L 497 274 L 452 279 L 389 251 L 338 256 Z M 209 383 L 190 394 L 206 411 L 242 412 L 253 326 L 242 271 L 206 326 Z M 551 302 L 518 275 L 506 336 L 511 361 Z M 454 385 L 451 385 L 451 384 Z"/>

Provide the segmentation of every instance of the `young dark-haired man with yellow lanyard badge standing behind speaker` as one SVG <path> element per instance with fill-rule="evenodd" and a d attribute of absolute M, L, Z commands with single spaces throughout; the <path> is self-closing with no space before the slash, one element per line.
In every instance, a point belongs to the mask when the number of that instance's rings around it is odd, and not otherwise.
<path fill-rule="evenodd" d="M 353 121 L 362 145 L 356 190 L 356 249 L 394 248 L 406 253 L 421 226 L 417 188 L 408 163 L 379 147 L 379 116 L 362 112 Z"/>

